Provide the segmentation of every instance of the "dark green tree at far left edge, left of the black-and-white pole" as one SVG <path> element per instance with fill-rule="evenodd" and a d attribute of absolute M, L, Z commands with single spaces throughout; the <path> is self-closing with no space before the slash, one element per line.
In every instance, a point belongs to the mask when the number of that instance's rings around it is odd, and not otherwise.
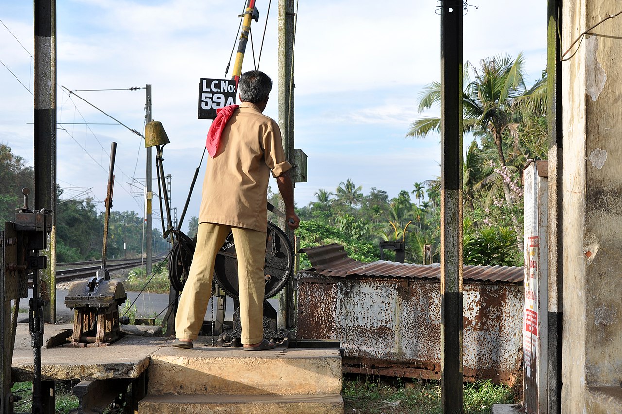
<path fill-rule="evenodd" d="M 32 167 L 19 155 L 11 152 L 11 147 L 0 144 L 0 223 L 13 221 L 15 209 L 24 205 L 22 188 L 30 188 L 34 182 Z M 32 208 L 32 197 L 30 197 Z"/>

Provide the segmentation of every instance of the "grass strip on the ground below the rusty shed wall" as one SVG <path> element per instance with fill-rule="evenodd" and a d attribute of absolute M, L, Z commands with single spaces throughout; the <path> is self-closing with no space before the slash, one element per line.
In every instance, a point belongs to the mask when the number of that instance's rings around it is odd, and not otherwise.
<path fill-rule="evenodd" d="M 350 375 L 343 379 L 344 413 L 438 414 L 440 385 L 437 380 L 402 380 L 373 375 Z M 490 380 L 464 385 L 464 410 L 488 414 L 493 404 L 513 403 L 514 393 L 506 385 Z"/>

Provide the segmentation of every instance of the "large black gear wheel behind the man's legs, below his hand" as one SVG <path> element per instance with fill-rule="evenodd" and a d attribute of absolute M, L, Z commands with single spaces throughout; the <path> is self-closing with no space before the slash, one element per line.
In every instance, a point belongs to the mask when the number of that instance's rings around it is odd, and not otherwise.
<path fill-rule="evenodd" d="M 266 233 L 266 293 L 264 300 L 281 292 L 287 279 L 294 274 L 294 249 L 284 231 L 268 222 Z M 233 234 L 229 234 L 216 255 L 216 283 L 227 295 L 237 298 L 238 290 L 238 258 L 235 252 Z"/>

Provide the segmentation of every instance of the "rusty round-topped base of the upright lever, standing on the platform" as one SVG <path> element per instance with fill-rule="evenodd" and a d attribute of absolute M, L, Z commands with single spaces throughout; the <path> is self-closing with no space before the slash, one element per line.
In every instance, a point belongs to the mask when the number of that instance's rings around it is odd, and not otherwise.
<path fill-rule="evenodd" d="M 119 339 L 119 305 L 127 299 L 120 280 L 73 282 L 65 306 L 72 308 L 73 334 L 70 346 L 104 346 Z"/>

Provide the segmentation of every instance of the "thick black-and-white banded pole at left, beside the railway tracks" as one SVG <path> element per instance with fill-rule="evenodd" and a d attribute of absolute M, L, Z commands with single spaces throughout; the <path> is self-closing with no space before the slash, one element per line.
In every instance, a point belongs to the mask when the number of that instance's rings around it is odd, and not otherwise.
<path fill-rule="evenodd" d="M 56 320 L 56 0 L 34 2 L 34 209 L 52 210 L 49 263 L 50 313 Z M 46 305 L 47 306 L 47 305 Z"/>

